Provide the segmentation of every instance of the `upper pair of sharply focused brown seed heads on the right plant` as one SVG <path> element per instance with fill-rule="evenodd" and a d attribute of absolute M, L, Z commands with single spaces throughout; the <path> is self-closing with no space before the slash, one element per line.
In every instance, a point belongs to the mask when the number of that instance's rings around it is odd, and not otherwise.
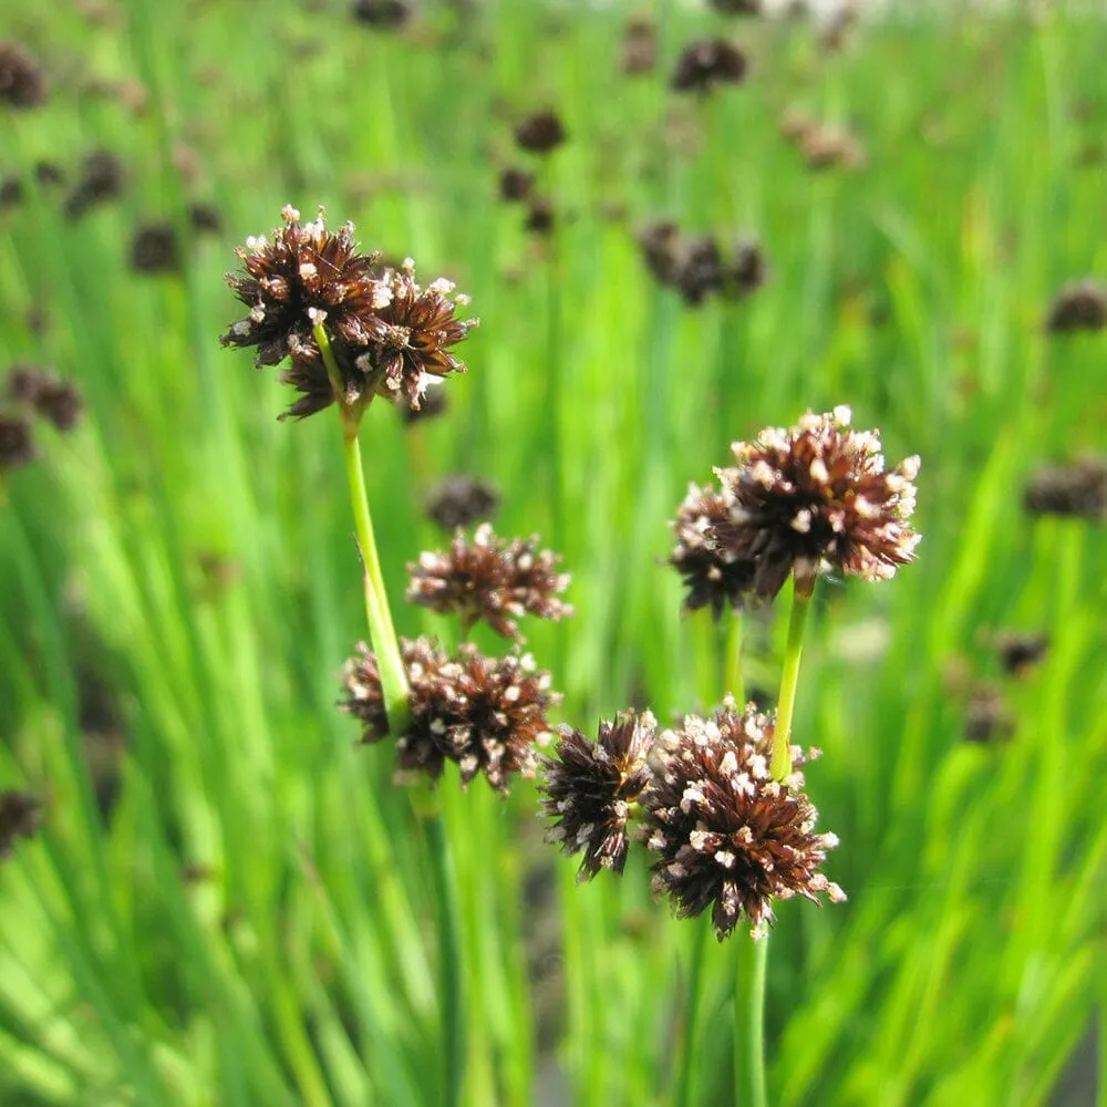
<path fill-rule="evenodd" d="M 848 407 L 808 412 L 790 430 L 736 442 L 718 489 L 692 486 L 674 520 L 670 562 L 685 608 L 772 600 L 795 575 L 809 590 L 820 570 L 884 580 L 911 561 L 919 458 L 884 468 L 879 433 L 850 428 Z"/>

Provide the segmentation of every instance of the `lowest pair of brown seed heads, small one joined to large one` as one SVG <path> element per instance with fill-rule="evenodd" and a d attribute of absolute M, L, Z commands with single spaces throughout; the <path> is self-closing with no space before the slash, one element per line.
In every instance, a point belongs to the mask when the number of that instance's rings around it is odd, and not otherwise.
<path fill-rule="evenodd" d="M 563 728 L 557 759 L 542 758 L 548 839 L 582 855 L 580 880 L 621 873 L 631 841 L 642 841 L 655 855 L 654 890 L 680 918 L 710 909 L 720 941 L 743 915 L 754 937 L 766 933 L 773 900 L 845 899 L 820 871 L 838 839 L 815 832 L 803 774 L 769 774 L 774 724 L 727 699 L 676 730 L 659 732 L 649 712 L 601 722 L 596 743 Z M 805 759 L 793 747 L 794 766 Z"/>

